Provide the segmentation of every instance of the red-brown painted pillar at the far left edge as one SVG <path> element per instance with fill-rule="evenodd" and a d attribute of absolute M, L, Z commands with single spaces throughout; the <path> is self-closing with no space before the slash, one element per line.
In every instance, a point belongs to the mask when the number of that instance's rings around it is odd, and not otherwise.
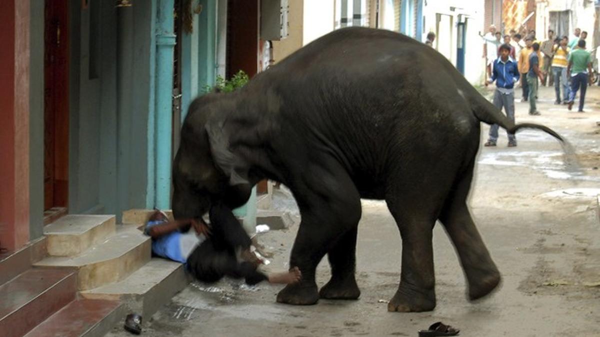
<path fill-rule="evenodd" d="M 29 1 L 0 2 L 0 248 L 29 241 Z"/>

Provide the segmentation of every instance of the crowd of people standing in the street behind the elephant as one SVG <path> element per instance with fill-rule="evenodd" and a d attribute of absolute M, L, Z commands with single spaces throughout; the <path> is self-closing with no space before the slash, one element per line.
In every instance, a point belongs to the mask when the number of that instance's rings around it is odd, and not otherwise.
<path fill-rule="evenodd" d="M 514 91 L 521 86 L 521 102 L 529 101 L 529 115 L 539 116 L 536 100 L 538 86 L 552 86 L 556 92 L 554 104 L 565 104 L 569 110 L 580 93 L 578 112 L 584 112 L 587 85 L 593 83 L 592 55 L 586 49 L 587 32 L 576 28 L 572 37 L 555 37 L 548 31 L 548 39 L 539 41 L 535 31 L 511 30 L 502 35 L 490 26 L 484 40 L 483 58 L 486 59 L 485 85 L 496 82 L 493 103 L 504 108 L 514 122 Z M 562 95 L 561 95 L 562 90 Z M 496 146 L 498 127 L 490 128 L 485 146 Z M 514 134 L 508 135 L 508 146 L 517 146 Z"/>

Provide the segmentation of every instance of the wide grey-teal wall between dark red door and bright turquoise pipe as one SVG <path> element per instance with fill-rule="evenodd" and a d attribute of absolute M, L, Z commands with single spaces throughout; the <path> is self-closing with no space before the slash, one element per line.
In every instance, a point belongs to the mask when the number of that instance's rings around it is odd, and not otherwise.
<path fill-rule="evenodd" d="M 155 0 L 129 8 L 91 0 L 86 10 L 71 0 L 71 213 L 120 221 L 123 210 L 148 206 L 154 17 Z"/>

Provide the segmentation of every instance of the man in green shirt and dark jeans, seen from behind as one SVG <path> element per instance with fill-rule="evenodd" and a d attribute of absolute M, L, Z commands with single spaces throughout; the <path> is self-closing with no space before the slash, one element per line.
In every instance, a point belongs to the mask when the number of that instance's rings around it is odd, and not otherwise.
<path fill-rule="evenodd" d="M 569 110 L 572 109 L 575 95 L 581 88 L 579 97 L 579 112 L 583 112 L 583 102 L 586 99 L 587 83 L 592 84 L 592 56 L 586 50 L 586 40 L 579 40 L 577 48 L 569 53 L 569 65 L 566 70 L 571 78 L 571 92 L 569 92 Z M 589 75 L 590 74 L 590 75 Z"/>

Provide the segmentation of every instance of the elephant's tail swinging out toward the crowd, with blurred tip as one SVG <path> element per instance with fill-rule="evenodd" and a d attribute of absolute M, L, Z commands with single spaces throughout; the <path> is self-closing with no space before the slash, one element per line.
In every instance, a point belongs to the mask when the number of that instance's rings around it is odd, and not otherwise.
<path fill-rule="evenodd" d="M 484 122 L 485 124 L 497 124 L 500 127 L 504 128 L 508 133 L 517 133 L 517 131 L 521 129 L 535 129 L 544 131 L 550 136 L 559 140 L 560 145 L 565 152 L 565 162 L 566 165 L 571 167 L 574 170 L 578 170 L 579 164 L 577 160 L 577 156 L 575 155 L 575 149 L 564 137 L 560 136 L 556 131 L 551 128 L 545 127 L 544 125 L 534 124 L 534 123 L 521 123 L 514 124 L 506 115 L 500 111 L 494 104 L 491 104 L 490 101 L 486 100 L 482 95 L 477 93 L 474 95 L 475 97 L 471 100 L 471 106 L 473 114 L 479 121 Z"/>

